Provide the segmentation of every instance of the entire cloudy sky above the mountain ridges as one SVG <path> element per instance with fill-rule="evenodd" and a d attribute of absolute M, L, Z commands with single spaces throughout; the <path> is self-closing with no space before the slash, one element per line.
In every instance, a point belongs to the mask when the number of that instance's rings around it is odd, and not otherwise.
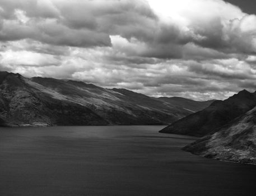
<path fill-rule="evenodd" d="M 250 0 L 0 0 L 0 71 L 155 97 L 254 92 L 255 6 Z"/>

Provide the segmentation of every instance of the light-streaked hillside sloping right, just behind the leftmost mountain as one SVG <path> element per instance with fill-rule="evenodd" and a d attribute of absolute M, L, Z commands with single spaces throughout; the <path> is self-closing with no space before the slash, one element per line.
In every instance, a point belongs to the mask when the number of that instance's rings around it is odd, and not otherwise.
<path fill-rule="evenodd" d="M 166 109 L 162 102 L 157 102 L 159 108 L 142 104 L 139 99 L 147 97 L 145 95 L 133 99 L 117 91 L 83 82 L 37 77 L 32 78 L 29 83 L 54 99 L 76 102 L 90 108 L 108 124 L 166 124 L 189 114 L 188 111 L 176 107 Z M 147 98 L 154 101 L 151 97 Z"/>

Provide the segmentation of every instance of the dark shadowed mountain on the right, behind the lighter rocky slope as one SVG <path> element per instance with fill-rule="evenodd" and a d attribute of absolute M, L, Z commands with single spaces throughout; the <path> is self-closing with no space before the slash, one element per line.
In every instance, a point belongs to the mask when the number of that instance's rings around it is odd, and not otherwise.
<path fill-rule="evenodd" d="M 255 106 L 255 94 L 243 90 L 229 99 L 213 102 L 206 109 L 190 114 L 160 130 L 160 132 L 205 136 L 206 134 L 217 132 L 223 125 Z"/>

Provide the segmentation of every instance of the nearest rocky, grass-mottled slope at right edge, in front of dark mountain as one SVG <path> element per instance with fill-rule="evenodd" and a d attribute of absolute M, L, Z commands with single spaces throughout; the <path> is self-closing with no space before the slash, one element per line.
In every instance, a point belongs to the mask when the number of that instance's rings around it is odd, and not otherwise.
<path fill-rule="evenodd" d="M 256 164 L 256 107 L 183 150 L 218 160 Z"/>

